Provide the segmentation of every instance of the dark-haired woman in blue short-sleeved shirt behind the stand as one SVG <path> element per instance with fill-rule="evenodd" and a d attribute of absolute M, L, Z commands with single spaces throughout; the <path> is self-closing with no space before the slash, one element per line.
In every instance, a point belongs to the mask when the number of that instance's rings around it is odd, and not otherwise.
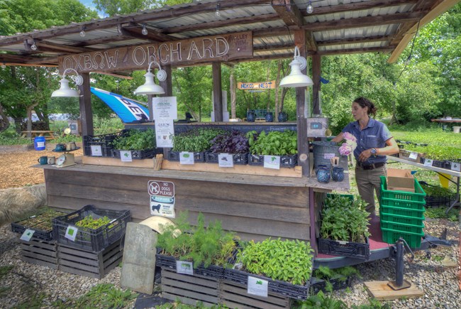
<path fill-rule="evenodd" d="M 387 126 L 374 120 L 377 108 L 365 97 L 359 97 L 352 102 L 352 116 L 356 121 L 350 122 L 332 141 L 340 142 L 346 132 L 357 139 L 354 157 L 355 180 L 359 194 L 367 202 L 367 212 L 372 221 L 376 219 L 374 206 L 374 191 L 379 200 L 381 195 L 381 179 L 386 175 L 386 156 L 399 153 L 399 146 Z"/>

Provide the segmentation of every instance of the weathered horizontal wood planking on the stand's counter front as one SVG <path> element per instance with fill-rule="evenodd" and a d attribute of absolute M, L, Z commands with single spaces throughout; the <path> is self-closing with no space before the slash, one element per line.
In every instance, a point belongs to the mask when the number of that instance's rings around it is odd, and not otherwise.
<path fill-rule="evenodd" d="M 309 240 L 309 188 L 304 186 L 45 169 L 51 207 L 79 210 L 91 204 L 111 210 L 130 210 L 136 222 L 150 217 L 149 180 L 174 183 L 175 209 L 178 213 L 187 210 L 192 224 L 196 224 L 196 217 L 202 212 L 206 220 L 221 221 L 223 229 L 235 231 L 243 239 Z"/>

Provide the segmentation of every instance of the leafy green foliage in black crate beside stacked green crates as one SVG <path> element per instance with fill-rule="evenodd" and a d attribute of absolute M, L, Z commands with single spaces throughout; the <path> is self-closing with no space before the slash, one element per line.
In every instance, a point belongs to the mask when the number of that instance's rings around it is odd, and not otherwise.
<path fill-rule="evenodd" d="M 322 210 L 321 238 L 365 242 L 365 237 L 370 236 L 365 205 L 365 201 L 360 197 L 353 201 L 340 195 L 327 197 Z"/>

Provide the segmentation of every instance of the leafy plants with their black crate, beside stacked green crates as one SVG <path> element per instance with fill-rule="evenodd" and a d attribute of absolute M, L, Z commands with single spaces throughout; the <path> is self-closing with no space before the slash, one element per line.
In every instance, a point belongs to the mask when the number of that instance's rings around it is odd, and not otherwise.
<path fill-rule="evenodd" d="M 348 196 L 331 195 L 326 198 L 321 212 L 319 253 L 369 258 L 370 224 L 365 205 L 360 197 L 352 200 Z"/>

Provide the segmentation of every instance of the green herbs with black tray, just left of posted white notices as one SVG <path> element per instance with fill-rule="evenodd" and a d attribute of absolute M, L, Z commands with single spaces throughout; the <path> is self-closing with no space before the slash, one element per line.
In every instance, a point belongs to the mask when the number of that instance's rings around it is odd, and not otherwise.
<path fill-rule="evenodd" d="M 113 140 L 112 145 L 113 158 L 120 158 L 120 151 L 130 151 L 133 159 L 153 158 L 156 153 L 155 131 L 131 129 Z"/>

